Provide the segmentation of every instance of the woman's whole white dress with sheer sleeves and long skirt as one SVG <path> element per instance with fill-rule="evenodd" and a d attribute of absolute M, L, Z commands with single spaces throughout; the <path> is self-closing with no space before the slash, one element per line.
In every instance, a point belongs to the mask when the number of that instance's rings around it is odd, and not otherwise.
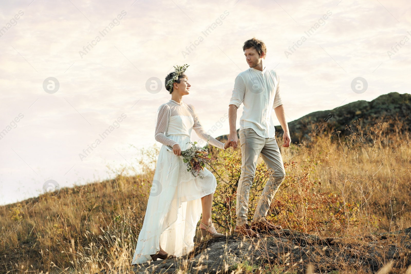
<path fill-rule="evenodd" d="M 186 150 L 191 131 L 218 148 L 224 144 L 208 135 L 199 122 L 194 107 L 170 100 L 159 107 L 155 139 L 162 143 L 153 185 L 145 211 L 144 223 L 137 241 L 132 264 L 151 260 L 161 248 L 177 257 L 194 248 L 196 226 L 201 216 L 201 197 L 214 193 L 214 175 L 204 168 L 203 178 L 187 171 L 182 156 L 175 155 L 167 146 L 179 144 Z"/>

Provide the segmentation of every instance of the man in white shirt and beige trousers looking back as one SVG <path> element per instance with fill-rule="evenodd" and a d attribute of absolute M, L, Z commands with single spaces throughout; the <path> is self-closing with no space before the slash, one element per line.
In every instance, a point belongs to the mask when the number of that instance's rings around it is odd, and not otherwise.
<path fill-rule="evenodd" d="M 271 117 L 273 109 L 284 131 L 282 146 L 289 147 L 291 139 L 279 94 L 278 74 L 265 66 L 266 45 L 263 41 L 253 38 L 245 41 L 242 49 L 250 68 L 238 74 L 229 104 L 229 140 L 233 147 L 237 147 L 238 144 L 237 109 L 241 103 L 244 104 L 238 132 L 242 165 L 237 188 L 237 223 L 234 232 L 256 237 L 258 234 L 254 231 L 281 229 L 281 226 L 275 226 L 266 219 L 272 198 L 285 177 L 284 165 L 275 140 L 275 127 Z M 260 154 L 271 174 L 249 226 L 248 196 Z"/>

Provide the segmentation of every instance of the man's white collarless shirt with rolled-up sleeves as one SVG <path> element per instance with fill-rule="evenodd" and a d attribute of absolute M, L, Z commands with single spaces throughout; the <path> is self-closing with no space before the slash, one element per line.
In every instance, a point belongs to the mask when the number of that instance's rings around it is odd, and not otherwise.
<path fill-rule="evenodd" d="M 249 68 L 236 77 L 230 104 L 244 104 L 240 118 L 240 130 L 252 128 L 261 137 L 275 135 L 272 110 L 282 105 L 279 94 L 279 77 L 273 69 L 263 71 Z"/>

